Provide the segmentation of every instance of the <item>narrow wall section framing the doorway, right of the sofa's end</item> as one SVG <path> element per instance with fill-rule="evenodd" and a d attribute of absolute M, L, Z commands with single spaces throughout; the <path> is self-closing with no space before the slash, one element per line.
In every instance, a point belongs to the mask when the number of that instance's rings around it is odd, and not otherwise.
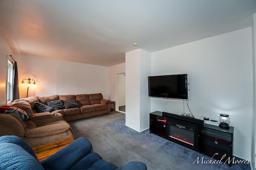
<path fill-rule="evenodd" d="M 125 72 L 125 63 L 122 64 L 117 64 L 114 66 L 109 67 L 109 80 L 108 80 L 108 94 L 109 94 L 109 100 L 112 100 L 116 102 L 115 107 L 118 105 L 118 92 L 116 91 L 118 89 L 118 83 L 117 83 L 117 76 L 118 74 L 124 73 Z"/>

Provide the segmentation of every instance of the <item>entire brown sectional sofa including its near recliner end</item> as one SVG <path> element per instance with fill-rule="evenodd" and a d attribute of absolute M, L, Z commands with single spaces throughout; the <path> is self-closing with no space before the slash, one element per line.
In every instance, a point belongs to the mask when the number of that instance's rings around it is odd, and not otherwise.
<path fill-rule="evenodd" d="M 80 105 L 75 108 L 57 109 L 50 112 L 38 113 L 35 102 L 47 105 L 49 101 L 76 100 Z M 18 107 L 29 113 L 24 121 L 16 114 L 0 113 L 0 136 L 15 135 L 22 138 L 30 147 L 38 147 L 47 143 L 73 137 L 72 128 L 67 121 L 110 113 L 110 101 L 98 94 L 32 96 L 14 100 L 12 107 Z M 52 114 L 55 113 L 53 116 Z"/>

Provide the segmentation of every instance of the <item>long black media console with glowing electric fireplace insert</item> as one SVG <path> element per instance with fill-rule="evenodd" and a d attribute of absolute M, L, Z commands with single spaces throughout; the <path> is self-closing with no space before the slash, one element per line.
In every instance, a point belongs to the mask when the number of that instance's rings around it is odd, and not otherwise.
<path fill-rule="evenodd" d="M 233 157 L 234 127 L 223 129 L 194 117 L 155 111 L 150 113 L 149 131 L 223 162 Z"/>

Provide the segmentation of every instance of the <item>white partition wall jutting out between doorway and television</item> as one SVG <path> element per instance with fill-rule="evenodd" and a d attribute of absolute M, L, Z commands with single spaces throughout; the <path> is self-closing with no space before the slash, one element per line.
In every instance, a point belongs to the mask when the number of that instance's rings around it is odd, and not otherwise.
<path fill-rule="evenodd" d="M 126 126 L 140 132 L 149 127 L 150 98 L 147 81 L 151 74 L 151 53 L 137 49 L 125 56 Z"/>

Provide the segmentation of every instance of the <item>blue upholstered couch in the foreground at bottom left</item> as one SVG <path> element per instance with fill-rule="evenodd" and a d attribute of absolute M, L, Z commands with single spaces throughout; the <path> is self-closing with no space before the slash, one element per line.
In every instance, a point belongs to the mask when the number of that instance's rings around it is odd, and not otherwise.
<path fill-rule="evenodd" d="M 106 162 L 95 152 L 84 137 L 76 139 L 67 147 L 39 162 L 33 150 L 17 136 L 0 137 L 1 170 L 121 170 Z M 142 162 L 130 162 L 122 170 L 146 170 Z"/>

